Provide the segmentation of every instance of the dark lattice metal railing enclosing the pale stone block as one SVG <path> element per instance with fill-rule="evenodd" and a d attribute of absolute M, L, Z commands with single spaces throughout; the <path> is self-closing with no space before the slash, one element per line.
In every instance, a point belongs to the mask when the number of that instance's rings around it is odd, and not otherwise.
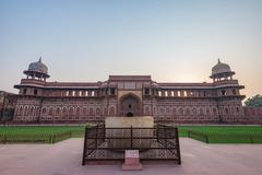
<path fill-rule="evenodd" d="M 181 164 L 178 128 L 85 128 L 82 165 L 94 161 L 123 161 L 124 150 L 139 150 L 141 161 L 174 161 Z"/>

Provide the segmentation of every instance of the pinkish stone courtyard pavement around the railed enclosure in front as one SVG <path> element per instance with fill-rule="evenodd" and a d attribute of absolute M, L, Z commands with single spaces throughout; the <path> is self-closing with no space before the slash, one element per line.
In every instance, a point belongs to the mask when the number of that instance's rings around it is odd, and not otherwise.
<path fill-rule="evenodd" d="M 206 144 L 180 139 L 181 165 L 81 165 L 83 139 L 56 144 L 0 144 L 0 175 L 261 175 L 262 144 Z"/>

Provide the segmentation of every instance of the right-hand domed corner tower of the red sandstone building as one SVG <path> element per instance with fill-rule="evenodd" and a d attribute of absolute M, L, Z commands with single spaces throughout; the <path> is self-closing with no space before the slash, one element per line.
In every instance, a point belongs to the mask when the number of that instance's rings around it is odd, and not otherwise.
<path fill-rule="evenodd" d="M 212 68 L 211 79 L 213 79 L 213 89 L 217 102 L 218 116 L 221 122 L 242 122 L 245 114 L 242 100 L 246 97 L 240 94 L 245 89 L 239 85 L 238 80 L 234 79 L 235 74 L 229 65 L 218 62 Z"/>

